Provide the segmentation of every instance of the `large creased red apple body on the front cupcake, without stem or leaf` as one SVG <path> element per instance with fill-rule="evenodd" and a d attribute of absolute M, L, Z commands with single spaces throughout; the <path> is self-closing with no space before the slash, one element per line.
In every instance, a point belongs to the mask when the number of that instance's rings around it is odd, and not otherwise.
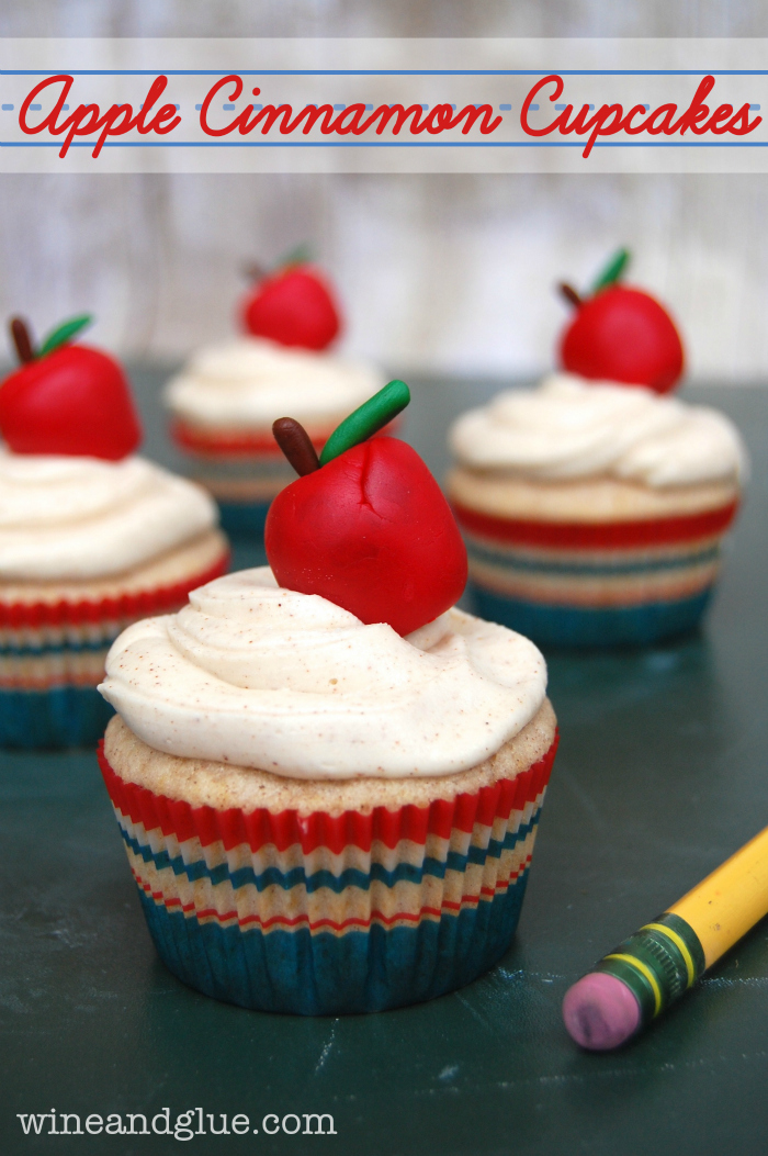
<path fill-rule="evenodd" d="M 461 596 L 467 550 L 415 450 L 375 437 L 297 479 L 273 502 L 267 557 L 281 586 L 320 594 L 408 635 Z"/>

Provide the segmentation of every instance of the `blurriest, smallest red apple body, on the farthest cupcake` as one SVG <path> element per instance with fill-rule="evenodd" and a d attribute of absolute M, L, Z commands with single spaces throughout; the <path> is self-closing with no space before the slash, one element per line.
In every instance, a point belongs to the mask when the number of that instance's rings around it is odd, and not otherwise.
<path fill-rule="evenodd" d="M 341 328 L 330 288 L 310 265 L 291 265 L 259 281 L 243 303 L 248 333 L 281 346 L 325 349 Z"/>

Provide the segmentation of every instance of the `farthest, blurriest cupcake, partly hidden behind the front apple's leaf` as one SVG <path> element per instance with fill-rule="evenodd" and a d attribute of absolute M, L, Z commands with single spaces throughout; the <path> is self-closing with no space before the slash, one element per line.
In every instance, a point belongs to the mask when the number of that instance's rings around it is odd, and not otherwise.
<path fill-rule="evenodd" d="M 382 385 L 371 366 L 328 353 L 341 323 L 321 275 L 290 264 L 243 305 L 246 336 L 199 350 L 166 386 L 171 436 L 216 498 L 224 527 L 261 539 L 269 503 L 293 474 L 271 436 L 296 415 L 320 450 Z"/>

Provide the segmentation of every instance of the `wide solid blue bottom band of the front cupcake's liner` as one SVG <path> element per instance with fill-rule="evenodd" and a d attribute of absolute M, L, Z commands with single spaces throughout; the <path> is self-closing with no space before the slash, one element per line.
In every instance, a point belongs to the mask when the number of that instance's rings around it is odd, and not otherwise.
<path fill-rule="evenodd" d="M 155 947 L 182 983 L 254 1010 L 344 1015 L 418 1003 L 477 979 L 509 947 L 527 882 L 528 872 L 455 916 L 343 935 L 199 924 L 139 895 Z"/>

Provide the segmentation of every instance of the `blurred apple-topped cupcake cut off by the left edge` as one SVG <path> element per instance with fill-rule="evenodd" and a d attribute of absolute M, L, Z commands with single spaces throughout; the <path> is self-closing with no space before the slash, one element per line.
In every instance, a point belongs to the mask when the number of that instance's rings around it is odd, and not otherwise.
<path fill-rule="evenodd" d="M 224 573 L 226 541 L 199 487 L 134 457 L 120 366 L 60 327 L 0 386 L 0 744 L 95 743 L 114 638 Z M 74 325 L 74 328 L 73 328 Z"/>

